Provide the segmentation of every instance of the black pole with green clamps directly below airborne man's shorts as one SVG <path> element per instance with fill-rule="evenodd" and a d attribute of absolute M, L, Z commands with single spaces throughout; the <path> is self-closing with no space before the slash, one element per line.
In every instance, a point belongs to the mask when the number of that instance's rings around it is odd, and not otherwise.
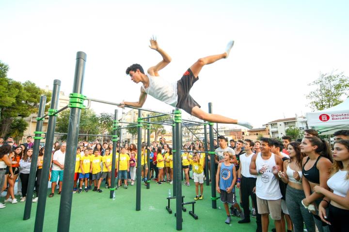
<path fill-rule="evenodd" d="M 180 136 L 182 135 L 181 123 L 182 116 L 181 111 L 176 108 L 174 111 L 174 122 L 175 122 L 175 141 L 176 141 L 176 229 L 177 231 L 182 230 L 182 183 L 181 183 L 181 152 L 182 145 Z"/>

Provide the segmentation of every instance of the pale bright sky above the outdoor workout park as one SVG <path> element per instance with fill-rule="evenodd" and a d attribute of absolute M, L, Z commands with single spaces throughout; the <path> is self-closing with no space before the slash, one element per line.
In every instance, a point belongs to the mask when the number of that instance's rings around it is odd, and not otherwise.
<path fill-rule="evenodd" d="M 161 60 L 148 47 L 152 35 L 172 58 L 159 72 L 169 82 L 234 40 L 229 58 L 205 66 L 190 94 L 203 110 L 212 102 L 213 113 L 258 128 L 310 112 L 305 96 L 319 73 L 349 75 L 348 10 L 345 0 L 0 0 L 0 60 L 9 65 L 9 78 L 50 89 L 59 79 L 68 95 L 76 53 L 83 51 L 83 94 L 133 102 L 141 83 L 125 71 Z M 173 109 L 151 96 L 143 108 Z"/>

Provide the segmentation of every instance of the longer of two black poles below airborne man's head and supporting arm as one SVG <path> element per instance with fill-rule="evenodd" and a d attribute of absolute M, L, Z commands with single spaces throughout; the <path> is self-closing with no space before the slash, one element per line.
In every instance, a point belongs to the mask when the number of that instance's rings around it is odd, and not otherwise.
<path fill-rule="evenodd" d="M 141 160 L 142 160 L 142 111 L 138 110 L 137 119 L 137 188 L 136 188 L 136 211 L 141 210 L 141 184 L 142 184 L 142 173 L 141 173 Z"/>

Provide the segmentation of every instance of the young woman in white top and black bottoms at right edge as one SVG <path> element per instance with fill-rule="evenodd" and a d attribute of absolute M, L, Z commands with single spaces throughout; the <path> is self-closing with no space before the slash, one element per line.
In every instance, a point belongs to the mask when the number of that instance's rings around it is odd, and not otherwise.
<path fill-rule="evenodd" d="M 331 190 L 314 187 L 315 192 L 325 196 L 319 204 L 319 217 L 329 224 L 331 232 L 346 232 L 349 226 L 349 140 L 334 143 L 330 175 L 327 185 Z"/>

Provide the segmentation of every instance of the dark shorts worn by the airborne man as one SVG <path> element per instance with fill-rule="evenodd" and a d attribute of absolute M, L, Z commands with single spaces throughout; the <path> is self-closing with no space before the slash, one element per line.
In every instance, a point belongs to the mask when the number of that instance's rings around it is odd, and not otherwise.
<path fill-rule="evenodd" d="M 195 100 L 190 96 L 190 88 L 199 79 L 195 78 L 194 74 L 188 69 L 180 80 L 177 81 L 177 108 L 180 108 L 191 115 L 191 110 L 195 106 L 201 107 Z"/>

